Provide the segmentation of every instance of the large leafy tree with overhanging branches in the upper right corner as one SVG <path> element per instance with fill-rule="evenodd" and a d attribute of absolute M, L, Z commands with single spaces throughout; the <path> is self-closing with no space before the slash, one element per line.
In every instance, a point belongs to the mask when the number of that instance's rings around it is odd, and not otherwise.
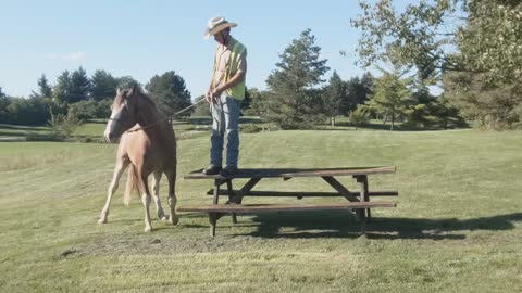
<path fill-rule="evenodd" d="M 391 2 L 363 1 L 352 20 L 362 30 L 364 66 L 386 60 L 410 66 L 418 88 L 444 80 L 448 100 L 481 126 L 519 123 L 513 117 L 522 105 L 510 92 L 522 76 L 522 2 L 420 1 L 401 12 Z"/>

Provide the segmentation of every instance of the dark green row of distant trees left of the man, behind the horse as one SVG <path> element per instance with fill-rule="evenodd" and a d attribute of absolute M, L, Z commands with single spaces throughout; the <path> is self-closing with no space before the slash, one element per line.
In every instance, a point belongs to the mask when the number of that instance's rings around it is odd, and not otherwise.
<path fill-rule="evenodd" d="M 53 86 L 41 75 L 37 90 L 28 99 L 8 97 L 0 88 L 0 123 L 45 125 L 60 115 L 78 120 L 107 119 L 116 89 L 133 85 L 139 82 L 130 76 L 114 77 L 100 69 L 89 77 L 83 67 L 62 72 Z M 170 117 L 191 104 L 185 80 L 173 71 L 154 75 L 145 88 L 160 111 Z"/>

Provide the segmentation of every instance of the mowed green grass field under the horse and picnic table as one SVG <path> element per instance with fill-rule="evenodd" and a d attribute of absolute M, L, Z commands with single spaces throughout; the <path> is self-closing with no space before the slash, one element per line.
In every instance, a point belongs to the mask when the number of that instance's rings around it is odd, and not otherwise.
<path fill-rule="evenodd" d="M 521 292 L 522 132 L 365 130 L 241 133 L 240 167 L 395 165 L 370 190 L 398 190 L 374 209 L 368 238 L 346 213 L 203 214 L 145 233 L 125 176 L 98 225 L 115 145 L 0 143 L 1 292 Z M 178 205 L 208 204 L 209 137 L 178 143 Z M 166 180 L 165 180 L 166 181 Z M 343 178 L 358 189 L 351 178 Z M 265 180 L 258 190 L 330 191 L 319 179 Z M 165 182 L 160 190 L 166 207 Z M 390 200 L 389 198 L 383 200 Z M 340 201 L 304 199 L 301 202 Z M 297 202 L 296 199 L 252 199 Z"/>

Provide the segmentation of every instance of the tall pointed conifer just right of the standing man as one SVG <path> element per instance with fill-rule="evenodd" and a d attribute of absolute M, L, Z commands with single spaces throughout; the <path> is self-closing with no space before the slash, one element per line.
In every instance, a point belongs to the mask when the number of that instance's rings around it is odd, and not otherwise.
<path fill-rule="evenodd" d="M 322 76 L 330 69 L 326 60 L 320 60 L 321 48 L 310 29 L 279 54 L 278 69 L 268 78 L 270 95 L 266 117 L 284 129 L 310 128 L 322 119 L 313 87 L 324 82 Z"/>

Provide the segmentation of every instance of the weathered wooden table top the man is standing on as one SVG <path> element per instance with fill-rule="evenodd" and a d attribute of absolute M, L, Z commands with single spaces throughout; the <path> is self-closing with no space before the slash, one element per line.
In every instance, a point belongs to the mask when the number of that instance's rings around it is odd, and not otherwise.
<path fill-rule="evenodd" d="M 185 179 L 235 179 L 235 178 L 294 178 L 294 177 L 331 177 L 358 176 L 370 174 L 391 174 L 395 166 L 377 167 L 345 167 L 345 168 L 256 168 L 239 169 L 236 175 L 223 177 L 221 175 L 204 175 L 203 169 L 185 175 Z"/>

